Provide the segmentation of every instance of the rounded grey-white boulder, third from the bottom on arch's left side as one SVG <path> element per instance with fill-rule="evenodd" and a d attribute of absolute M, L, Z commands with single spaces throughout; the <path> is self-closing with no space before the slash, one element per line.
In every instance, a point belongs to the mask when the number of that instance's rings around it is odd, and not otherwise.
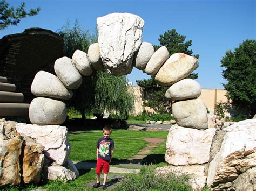
<path fill-rule="evenodd" d="M 72 59 L 62 57 L 55 61 L 54 70 L 59 80 L 68 89 L 77 89 L 83 79 L 77 68 L 73 65 Z"/>

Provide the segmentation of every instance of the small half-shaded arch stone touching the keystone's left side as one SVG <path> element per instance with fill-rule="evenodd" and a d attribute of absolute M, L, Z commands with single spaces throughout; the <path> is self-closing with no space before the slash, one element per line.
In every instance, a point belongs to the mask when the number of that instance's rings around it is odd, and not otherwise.
<path fill-rule="evenodd" d="M 94 69 L 96 69 L 96 70 L 104 70 L 105 69 L 103 62 L 102 62 L 102 58 L 100 58 L 98 43 L 93 43 L 89 46 L 88 60 Z"/>

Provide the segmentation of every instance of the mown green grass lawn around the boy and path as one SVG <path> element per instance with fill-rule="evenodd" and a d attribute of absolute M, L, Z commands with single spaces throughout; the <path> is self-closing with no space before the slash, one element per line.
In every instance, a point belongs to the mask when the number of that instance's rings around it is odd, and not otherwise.
<path fill-rule="evenodd" d="M 128 159 L 136 155 L 139 150 L 146 146 L 147 142 L 143 138 L 167 138 L 167 131 L 138 132 L 129 130 L 113 130 L 111 138 L 115 143 L 112 166 L 115 166 L 120 160 Z M 78 134 L 70 134 L 69 142 L 71 143 L 70 159 L 73 161 L 96 162 L 96 143 L 98 138 L 102 137 L 102 131 L 90 130 Z M 159 147 L 154 148 L 147 156 L 147 160 L 164 166 L 165 142 Z M 43 182 L 41 185 L 28 186 L 25 189 L 46 189 L 46 190 L 94 190 L 84 188 L 84 185 L 91 180 L 96 180 L 95 169 L 79 171 L 80 176 L 71 182 L 63 183 L 61 181 Z M 20 190 L 13 188 L 11 190 Z M 10 189 L 9 189 L 10 190 Z"/>

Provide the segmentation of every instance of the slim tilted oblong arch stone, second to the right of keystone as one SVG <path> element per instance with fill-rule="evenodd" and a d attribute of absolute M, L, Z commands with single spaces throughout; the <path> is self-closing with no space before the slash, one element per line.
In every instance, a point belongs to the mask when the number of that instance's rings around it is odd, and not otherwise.
<path fill-rule="evenodd" d="M 155 75 L 164 62 L 169 58 L 169 52 L 165 46 L 161 46 L 147 62 L 145 72 L 150 75 Z"/>

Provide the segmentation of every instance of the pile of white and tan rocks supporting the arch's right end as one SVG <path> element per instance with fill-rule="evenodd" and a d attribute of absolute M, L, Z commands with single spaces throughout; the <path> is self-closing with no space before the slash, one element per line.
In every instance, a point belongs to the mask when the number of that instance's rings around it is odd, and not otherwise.
<path fill-rule="evenodd" d="M 209 119 L 214 116 L 209 115 Z M 209 126 L 211 124 L 209 123 Z M 248 119 L 221 129 L 215 123 L 206 130 L 173 125 L 166 142 L 169 171 L 192 176 L 193 189 L 207 185 L 215 189 L 254 190 L 256 188 L 256 119 Z"/>

